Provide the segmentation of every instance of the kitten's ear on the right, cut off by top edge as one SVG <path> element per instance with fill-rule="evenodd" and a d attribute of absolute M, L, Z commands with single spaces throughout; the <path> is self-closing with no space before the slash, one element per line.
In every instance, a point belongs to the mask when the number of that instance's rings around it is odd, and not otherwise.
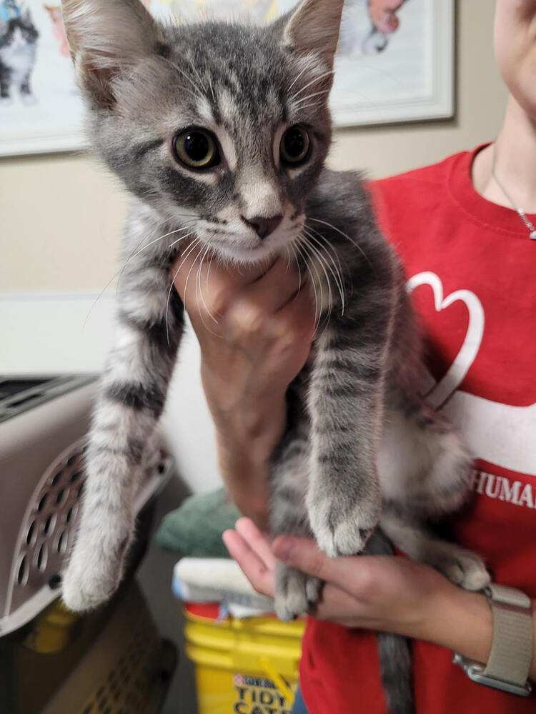
<path fill-rule="evenodd" d="M 283 42 L 298 54 L 317 54 L 329 69 L 339 41 L 344 0 L 302 0 L 286 16 Z"/>

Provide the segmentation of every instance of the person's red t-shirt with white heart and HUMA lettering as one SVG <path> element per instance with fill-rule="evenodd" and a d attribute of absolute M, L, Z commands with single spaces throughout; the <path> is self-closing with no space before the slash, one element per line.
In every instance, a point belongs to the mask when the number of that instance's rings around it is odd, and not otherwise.
<path fill-rule="evenodd" d="M 536 598 L 536 242 L 517 213 L 482 198 L 476 152 L 372 184 L 427 333 L 430 401 L 476 457 L 459 543 L 497 583 Z M 536 216 L 530 216 L 536 224 Z M 525 714 L 536 698 L 472 683 L 452 652 L 414 640 L 419 714 Z M 301 686 L 310 714 L 386 714 L 374 633 L 309 618 Z"/>

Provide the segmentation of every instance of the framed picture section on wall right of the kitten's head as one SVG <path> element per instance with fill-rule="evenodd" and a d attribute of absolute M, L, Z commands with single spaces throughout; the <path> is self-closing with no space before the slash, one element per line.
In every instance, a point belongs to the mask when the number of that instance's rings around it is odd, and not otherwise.
<path fill-rule="evenodd" d="M 454 49 L 454 0 L 346 0 L 335 125 L 453 116 Z"/>

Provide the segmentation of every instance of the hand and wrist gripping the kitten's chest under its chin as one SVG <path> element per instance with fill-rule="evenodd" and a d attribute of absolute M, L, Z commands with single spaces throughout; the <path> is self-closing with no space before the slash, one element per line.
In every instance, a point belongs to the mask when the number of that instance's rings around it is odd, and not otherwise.
<path fill-rule="evenodd" d="M 200 252 L 186 251 L 172 276 L 201 346 L 222 476 L 239 510 L 262 524 L 267 462 L 286 424 L 285 393 L 311 348 L 312 297 L 284 258 L 231 269 Z"/>

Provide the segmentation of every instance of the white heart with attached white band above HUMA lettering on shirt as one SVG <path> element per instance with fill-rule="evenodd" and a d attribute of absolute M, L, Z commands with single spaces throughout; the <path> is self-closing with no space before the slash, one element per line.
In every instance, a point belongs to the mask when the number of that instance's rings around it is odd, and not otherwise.
<path fill-rule="evenodd" d="M 457 290 L 446 298 L 440 278 L 432 272 L 418 273 L 407 282 L 408 292 L 430 285 L 439 313 L 457 300 L 467 306 L 469 324 L 460 351 L 445 376 L 435 383 L 428 374 L 427 403 L 441 408 L 454 423 L 475 458 L 496 466 L 536 476 L 536 404 L 512 406 L 458 389 L 480 349 L 485 316 L 479 298 L 469 290 Z"/>

